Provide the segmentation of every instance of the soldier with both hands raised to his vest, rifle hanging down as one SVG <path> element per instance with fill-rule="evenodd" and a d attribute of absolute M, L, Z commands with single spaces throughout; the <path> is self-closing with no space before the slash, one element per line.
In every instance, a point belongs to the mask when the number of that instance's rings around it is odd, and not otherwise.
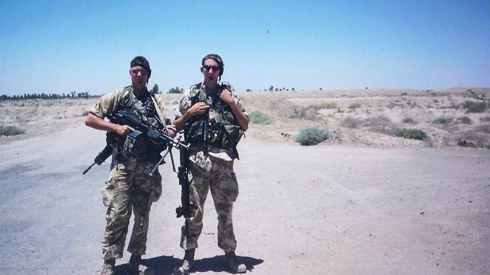
<path fill-rule="evenodd" d="M 242 101 L 232 93 L 231 86 L 219 84 L 224 67 L 221 57 L 207 55 L 201 65 L 203 82 L 192 86 L 175 110 L 174 124 L 178 131 L 184 130 L 185 140 L 191 145 L 190 200 L 197 210 L 189 219 L 187 230 L 185 225 L 182 227 L 180 246 L 185 249 L 185 255 L 174 274 L 188 273 L 194 262 L 209 190 L 218 214 L 218 247 L 225 252 L 225 263 L 231 271 L 244 273 L 246 266 L 234 252 L 236 240 L 231 212 L 238 196 L 233 160 L 238 158 L 236 144 L 249 127 L 249 115 Z"/>

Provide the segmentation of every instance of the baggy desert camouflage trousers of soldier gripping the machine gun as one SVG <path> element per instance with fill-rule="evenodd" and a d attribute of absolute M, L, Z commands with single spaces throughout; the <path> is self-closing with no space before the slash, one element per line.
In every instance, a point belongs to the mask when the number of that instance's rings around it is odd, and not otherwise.
<path fill-rule="evenodd" d="M 117 169 L 113 165 L 102 190 L 102 201 L 107 206 L 107 224 L 102 240 L 104 259 L 122 257 L 132 211 L 135 213 L 135 224 L 128 251 L 145 254 L 150 208 L 162 194 L 160 173 L 148 175 L 154 165 L 136 160 L 119 162 Z"/>

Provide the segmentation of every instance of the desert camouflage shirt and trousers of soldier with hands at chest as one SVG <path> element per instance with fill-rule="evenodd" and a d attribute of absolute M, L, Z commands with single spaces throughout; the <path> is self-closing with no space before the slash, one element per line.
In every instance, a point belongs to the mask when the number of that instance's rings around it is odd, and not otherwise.
<path fill-rule="evenodd" d="M 191 107 L 194 90 L 187 91 L 182 97 L 179 109 L 175 110 L 176 119 Z M 232 94 L 232 96 L 240 111 L 249 117 L 242 101 L 236 95 Z M 211 113 L 210 122 L 213 119 L 215 118 Z M 187 235 L 185 234 L 185 225 L 182 226 L 180 246 L 186 250 L 198 246 L 197 240 L 202 230 L 204 202 L 208 191 L 211 190 L 214 207 L 218 214 L 218 247 L 225 252 L 234 251 L 236 240 L 233 233 L 231 212 L 233 202 L 238 196 L 238 182 L 233 172 L 233 159 L 237 157 L 236 152 L 209 144 L 207 154 L 203 152 L 202 148 L 192 146 L 189 148 L 189 156 L 190 199 L 198 209 L 194 217 L 189 219 L 189 233 Z"/>

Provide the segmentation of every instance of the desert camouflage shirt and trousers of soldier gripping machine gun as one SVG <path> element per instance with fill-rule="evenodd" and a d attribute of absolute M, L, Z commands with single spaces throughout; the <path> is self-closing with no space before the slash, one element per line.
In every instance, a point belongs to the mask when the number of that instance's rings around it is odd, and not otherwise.
<path fill-rule="evenodd" d="M 141 118 L 158 125 L 154 117 L 157 116 L 156 112 L 152 110 L 153 102 L 148 94 L 141 100 L 134 94 L 131 86 L 106 94 L 90 113 L 103 119 L 117 110 L 140 111 L 143 114 L 150 112 L 152 115 L 142 115 Z M 173 125 L 170 126 L 171 121 L 165 103 L 159 97 L 155 99 L 165 124 L 169 125 L 166 127 L 175 130 Z M 117 144 L 113 145 L 113 149 L 110 176 L 102 190 L 102 201 L 107 206 L 107 225 L 102 240 L 104 259 L 122 257 L 131 211 L 135 213 L 135 224 L 128 251 L 137 255 L 145 254 L 150 208 L 162 194 L 160 173 L 148 175 L 158 162 L 158 154 L 143 158 L 130 155 Z"/>

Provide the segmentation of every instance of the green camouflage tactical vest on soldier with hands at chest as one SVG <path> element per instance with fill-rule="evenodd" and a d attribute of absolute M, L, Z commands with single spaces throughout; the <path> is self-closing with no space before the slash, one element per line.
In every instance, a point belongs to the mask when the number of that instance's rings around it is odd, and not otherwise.
<path fill-rule="evenodd" d="M 223 85 L 218 89 L 223 89 Z M 231 88 L 228 87 L 228 90 Z M 230 90 L 231 91 L 231 90 Z M 238 126 L 230 106 L 222 101 L 216 94 L 206 94 L 201 83 L 191 87 L 189 99 L 191 106 L 197 102 L 204 102 L 209 109 L 202 115 L 193 116 L 184 125 L 184 137 L 191 144 L 212 145 L 219 148 L 231 149 L 237 154 L 236 145 L 240 141 L 243 131 Z M 207 123 L 207 139 L 204 140 L 204 125 Z M 207 143 L 207 144 L 205 144 Z"/>

